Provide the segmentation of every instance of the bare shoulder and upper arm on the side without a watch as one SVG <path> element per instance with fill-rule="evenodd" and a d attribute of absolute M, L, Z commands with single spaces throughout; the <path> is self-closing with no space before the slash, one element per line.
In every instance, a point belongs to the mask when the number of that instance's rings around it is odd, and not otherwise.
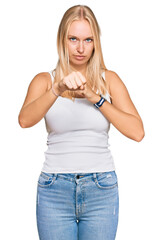
<path fill-rule="evenodd" d="M 36 74 L 29 84 L 22 107 L 39 98 L 42 94 L 51 88 L 51 85 L 51 76 L 48 72 L 41 72 Z"/>

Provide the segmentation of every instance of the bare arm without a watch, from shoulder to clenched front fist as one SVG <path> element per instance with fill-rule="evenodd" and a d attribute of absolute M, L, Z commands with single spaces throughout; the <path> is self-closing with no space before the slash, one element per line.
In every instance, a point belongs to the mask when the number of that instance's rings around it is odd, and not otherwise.
<path fill-rule="evenodd" d="M 65 90 L 83 89 L 85 84 L 86 80 L 80 79 L 78 72 L 72 72 L 59 83 L 54 82 L 53 89 L 57 95 L 61 95 Z M 49 73 L 39 73 L 33 78 L 18 117 L 21 127 L 32 127 L 45 116 L 57 99 L 51 88 Z"/>

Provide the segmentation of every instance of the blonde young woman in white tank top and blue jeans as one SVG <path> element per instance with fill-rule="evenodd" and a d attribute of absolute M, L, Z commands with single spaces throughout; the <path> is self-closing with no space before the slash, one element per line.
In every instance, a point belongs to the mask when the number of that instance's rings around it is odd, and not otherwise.
<path fill-rule="evenodd" d="M 23 128 L 43 117 L 48 131 L 37 186 L 41 240 L 113 240 L 119 195 L 108 131 L 113 124 L 135 141 L 142 120 L 119 76 L 104 64 L 92 10 L 68 9 L 57 36 L 59 60 L 31 81 L 19 114 Z"/>

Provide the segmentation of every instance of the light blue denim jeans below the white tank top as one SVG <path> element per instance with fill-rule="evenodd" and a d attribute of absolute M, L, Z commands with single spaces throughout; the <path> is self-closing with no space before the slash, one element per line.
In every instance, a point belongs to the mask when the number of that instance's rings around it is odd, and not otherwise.
<path fill-rule="evenodd" d="M 36 217 L 40 240 L 114 240 L 118 212 L 115 171 L 39 175 Z"/>

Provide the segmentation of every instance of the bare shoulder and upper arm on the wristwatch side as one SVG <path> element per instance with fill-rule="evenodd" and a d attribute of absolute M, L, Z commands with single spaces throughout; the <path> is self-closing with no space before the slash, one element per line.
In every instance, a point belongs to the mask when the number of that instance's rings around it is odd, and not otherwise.
<path fill-rule="evenodd" d="M 132 114 L 141 120 L 140 115 L 131 100 L 127 87 L 118 74 L 114 71 L 106 70 L 105 76 L 112 97 L 112 104 L 121 111 Z"/>

